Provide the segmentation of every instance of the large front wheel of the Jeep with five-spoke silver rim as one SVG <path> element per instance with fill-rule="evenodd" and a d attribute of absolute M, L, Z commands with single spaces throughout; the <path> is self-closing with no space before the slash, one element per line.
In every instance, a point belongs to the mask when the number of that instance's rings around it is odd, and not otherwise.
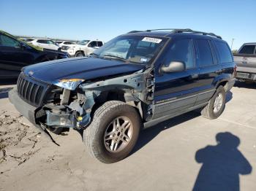
<path fill-rule="evenodd" d="M 121 123 L 123 118 L 125 119 L 124 123 L 127 121 L 130 123 L 130 125 L 127 125 L 129 126 L 129 128 L 127 128 L 129 131 L 124 130 L 126 125 Z M 116 119 L 118 119 L 119 124 L 121 125 L 119 126 L 119 132 L 117 131 L 118 129 L 114 130 L 113 126 L 113 124 L 116 123 Z M 113 130 L 108 132 L 111 125 L 113 126 Z M 91 124 L 85 130 L 83 130 L 83 142 L 86 145 L 87 151 L 92 157 L 96 158 L 102 163 L 115 163 L 124 159 L 124 157 L 127 157 L 127 155 L 129 155 L 129 153 L 132 151 L 133 147 L 135 147 L 140 133 L 140 125 L 141 119 L 135 108 L 121 101 L 108 101 L 94 112 L 94 117 Z M 132 131 L 130 131 L 131 129 Z M 125 131 L 123 134 L 132 132 L 130 133 L 129 139 L 126 139 L 129 141 L 119 140 L 125 139 L 125 136 L 120 138 L 120 132 L 123 130 Z M 108 137 L 108 135 L 106 136 L 106 133 L 112 133 L 112 135 L 110 135 L 112 138 L 108 141 L 106 141 L 107 139 L 105 140 L 105 138 Z M 118 139 L 117 145 L 112 144 L 112 141 L 115 141 L 113 140 L 113 137 L 115 140 Z M 111 148 L 113 150 L 111 150 Z"/>

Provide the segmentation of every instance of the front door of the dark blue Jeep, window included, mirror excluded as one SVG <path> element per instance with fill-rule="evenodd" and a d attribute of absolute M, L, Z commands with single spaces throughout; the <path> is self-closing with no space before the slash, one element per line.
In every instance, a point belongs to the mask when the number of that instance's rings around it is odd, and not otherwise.
<path fill-rule="evenodd" d="M 176 39 L 168 49 L 162 63 L 167 66 L 172 61 L 181 61 L 185 63 L 186 70 L 155 77 L 153 119 L 194 106 L 197 88 L 200 87 L 192 39 Z"/>

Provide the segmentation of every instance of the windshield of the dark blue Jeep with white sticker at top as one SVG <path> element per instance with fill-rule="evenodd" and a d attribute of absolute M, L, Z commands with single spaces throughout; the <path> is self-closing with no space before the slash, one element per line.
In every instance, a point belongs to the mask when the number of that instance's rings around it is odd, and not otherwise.
<path fill-rule="evenodd" d="M 159 37 L 118 36 L 95 50 L 93 55 L 132 63 L 148 63 L 163 44 L 164 40 Z"/>

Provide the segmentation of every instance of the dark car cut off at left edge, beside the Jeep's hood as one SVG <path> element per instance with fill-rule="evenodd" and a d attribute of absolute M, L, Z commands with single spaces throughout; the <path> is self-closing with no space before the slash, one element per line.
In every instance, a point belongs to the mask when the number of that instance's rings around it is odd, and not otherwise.
<path fill-rule="evenodd" d="M 33 63 L 68 58 L 58 51 L 47 51 L 0 31 L 0 79 L 17 78 L 20 69 Z"/>

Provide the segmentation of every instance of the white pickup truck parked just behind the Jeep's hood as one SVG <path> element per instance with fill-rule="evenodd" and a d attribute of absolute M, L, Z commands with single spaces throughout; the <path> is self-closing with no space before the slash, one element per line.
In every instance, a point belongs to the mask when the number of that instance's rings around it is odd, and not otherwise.
<path fill-rule="evenodd" d="M 83 40 L 78 44 L 62 46 L 61 51 L 67 52 L 70 57 L 88 56 L 104 44 L 99 40 Z"/>

